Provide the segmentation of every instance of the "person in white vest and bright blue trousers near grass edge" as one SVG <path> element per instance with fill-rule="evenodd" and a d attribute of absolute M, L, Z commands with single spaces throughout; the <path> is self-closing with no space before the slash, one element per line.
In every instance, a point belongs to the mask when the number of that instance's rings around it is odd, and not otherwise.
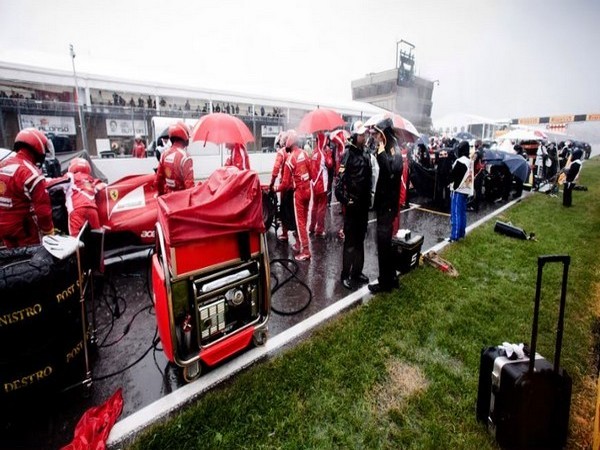
<path fill-rule="evenodd" d="M 467 228 L 467 199 L 473 195 L 473 166 L 469 159 L 469 143 L 462 141 L 457 146 L 458 159 L 450 172 L 450 241 L 465 237 Z"/>

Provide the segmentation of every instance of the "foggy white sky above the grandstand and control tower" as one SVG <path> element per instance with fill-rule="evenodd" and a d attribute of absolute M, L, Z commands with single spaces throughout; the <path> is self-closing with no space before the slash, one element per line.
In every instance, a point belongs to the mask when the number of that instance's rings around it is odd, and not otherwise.
<path fill-rule="evenodd" d="M 0 0 L 0 60 L 314 102 L 416 47 L 432 116 L 600 112 L 600 1 Z"/>

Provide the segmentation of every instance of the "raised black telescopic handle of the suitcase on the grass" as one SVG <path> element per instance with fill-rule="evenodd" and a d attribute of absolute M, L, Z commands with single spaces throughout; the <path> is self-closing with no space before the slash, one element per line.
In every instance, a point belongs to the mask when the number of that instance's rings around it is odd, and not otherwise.
<path fill-rule="evenodd" d="M 567 280 L 569 278 L 569 255 L 546 255 L 538 257 L 538 274 L 535 287 L 535 305 L 533 309 L 533 326 L 531 327 L 531 351 L 529 354 L 529 373 L 533 373 L 535 366 L 535 348 L 537 345 L 538 316 L 540 313 L 540 297 L 542 293 L 542 273 L 546 263 L 561 262 L 563 264 L 563 279 L 560 292 L 560 306 L 558 312 L 558 326 L 556 329 L 556 347 L 554 349 L 554 371 L 558 372 L 560 365 L 560 351 L 562 348 L 563 324 L 565 319 L 565 303 L 567 299 Z"/>

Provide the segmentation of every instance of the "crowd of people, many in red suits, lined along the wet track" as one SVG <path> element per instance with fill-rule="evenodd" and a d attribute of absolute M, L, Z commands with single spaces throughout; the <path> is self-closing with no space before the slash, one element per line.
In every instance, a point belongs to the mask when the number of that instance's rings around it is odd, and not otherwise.
<path fill-rule="evenodd" d="M 187 152 L 189 140 L 190 129 L 183 122 L 177 122 L 168 129 L 168 141 L 159 143 L 160 157 L 155 175 L 159 195 L 195 185 L 193 162 Z M 82 158 L 71 162 L 66 175 L 47 181 L 39 165 L 51 152 L 51 144 L 43 132 L 24 129 L 16 136 L 15 154 L 0 162 L 0 238 L 8 248 L 37 244 L 41 236 L 54 233 L 48 187 L 59 187 L 65 192 L 69 234 L 76 236 L 86 221 L 92 227 L 100 226 L 94 197 L 103 184 L 92 177 L 89 162 Z M 377 217 L 379 275 L 368 287 L 372 292 L 389 292 L 397 288 L 392 237 L 399 227 L 399 210 L 408 204 L 409 159 L 416 158 L 420 164 L 431 165 L 427 145 L 423 142 L 410 147 L 400 145 L 389 118 L 370 127 L 356 122 L 351 132 L 318 132 L 314 137 L 314 149 L 310 146 L 305 149 L 294 130 L 281 132 L 275 144 L 277 153 L 269 190 L 280 197 L 281 233 L 277 239 L 288 242 L 292 233 L 295 259 L 309 260 L 309 235 L 326 235 L 327 206 L 335 195 L 342 206 L 344 219 L 343 228 L 338 230 L 344 239 L 340 282 L 348 289 L 355 289 L 370 281 L 363 273 L 364 241 L 368 213 L 373 209 Z M 449 240 L 458 241 L 465 236 L 469 199 L 478 200 L 482 195 L 481 173 L 485 166 L 486 144 L 475 142 L 473 151 L 467 141 L 444 145 L 453 145 L 451 150 L 455 155 L 448 178 L 451 192 Z M 230 152 L 226 166 L 251 169 L 244 145 L 232 143 L 226 147 Z M 522 146 L 516 145 L 514 150 L 527 158 Z M 139 135 L 135 137 L 133 154 L 145 156 L 145 144 Z M 558 180 L 562 175 L 563 204 L 571 206 L 584 149 L 571 142 L 540 145 L 536 156 L 535 179 L 540 183 Z M 521 195 L 522 188 L 522 183 L 517 186 L 516 196 Z M 503 196 L 508 192 L 505 190 Z"/>

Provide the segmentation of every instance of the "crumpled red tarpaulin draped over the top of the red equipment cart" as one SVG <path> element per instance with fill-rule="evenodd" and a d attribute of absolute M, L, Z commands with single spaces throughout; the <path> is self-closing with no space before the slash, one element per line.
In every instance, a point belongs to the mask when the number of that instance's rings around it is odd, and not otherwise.
<path fill-rule="evenodd" d="M 200 186 L 159 197 L 158 221 L 170 246 L 239 231 L 264 233 L 258 174 L 221 167 Z"/>

